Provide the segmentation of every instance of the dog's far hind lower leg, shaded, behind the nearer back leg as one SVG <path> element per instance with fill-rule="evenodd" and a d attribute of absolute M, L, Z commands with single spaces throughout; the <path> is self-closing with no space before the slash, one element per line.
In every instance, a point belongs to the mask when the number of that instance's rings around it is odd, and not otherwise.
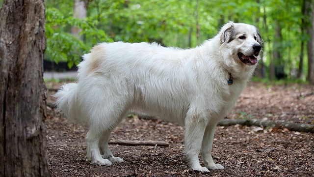
<path fill-rule="evenodd" d="M 103 134 L 102 138 L 99 141 L 99 148 L 100 148 L 101 154 L 103 154 L 103 157 L 105 159 L 108 159 L 112 163 L 124 162 L 122 158 L 113 156 L 112 152 L 109 149 L 108 141 L 109 141 L 109 136 L 110 136 L 111 131 L 112 129 L 105 131 L 105 133 Z"/>

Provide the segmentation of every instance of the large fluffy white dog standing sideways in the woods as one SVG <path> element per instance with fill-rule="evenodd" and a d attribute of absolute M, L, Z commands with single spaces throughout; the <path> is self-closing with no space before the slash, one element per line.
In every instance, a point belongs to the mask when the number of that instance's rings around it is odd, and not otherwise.
<path fill-rule="evenodd" d="M 184 126 L 191 169 L 224 169 L 211 156 L 215 127 L 252 77 L 261 43 L 256 27 L 233 22 L 193 49 L 101 43 L 83 55 L 78 83 L 65 84 L 54 95 L 57 108 L 88 125 L 87 158 L 93 164 L 124 162 L 112 154 L 108 140 L 125 115 L 136 110 Z"/>

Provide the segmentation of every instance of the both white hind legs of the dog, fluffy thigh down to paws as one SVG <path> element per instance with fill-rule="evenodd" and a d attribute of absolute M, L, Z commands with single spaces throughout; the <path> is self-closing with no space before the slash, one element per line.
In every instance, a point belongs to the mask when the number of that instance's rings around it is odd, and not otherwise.
<path fill-rule="evenodd" d="M 112 155 L 108 139 L 113 128 L 129 109 L 132 95 L 128 92 L 127 84 L 122 84 L 125 88 L 122 86 L 114 88 L 116 85 L 107 82 L 105 86 L 93 85 L 92 88 L 85 89 L 88 90 L 88 95 L 85 93 L 84 101 L 90 105 L 87 109 L 90 127 L 85 138 L 86 150 L 87 158 L 94 164 L 110 166 L 112 162 L 123 161 Z"/>

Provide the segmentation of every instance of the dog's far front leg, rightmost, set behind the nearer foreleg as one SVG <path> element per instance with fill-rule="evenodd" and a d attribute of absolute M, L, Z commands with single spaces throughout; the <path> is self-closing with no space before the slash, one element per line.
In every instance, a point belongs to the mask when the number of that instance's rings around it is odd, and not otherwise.
<path fill-rule="evenodd" d="M 201 151 L 205 166 L 211 170 L 225 169 L 222 165 L 214 163 L 211 157 L 212 143 L 214 139 L 216 124 L 217 123 L 209 122 L 209 124 L 207 125 L 204 133 Z"/>

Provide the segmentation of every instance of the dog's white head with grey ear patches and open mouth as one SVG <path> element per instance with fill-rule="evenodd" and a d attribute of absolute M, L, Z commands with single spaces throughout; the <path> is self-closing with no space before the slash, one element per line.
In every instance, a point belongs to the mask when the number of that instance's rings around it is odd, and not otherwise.
<path fill-rule="evenodd" d="M 246 65 L 255 65 L 258 62 L 262 37 L 256 27 L 229 22 L 220 30 L 220 41 L 220 49 L 225 59 L 230 59 L 231 55 L 236 62 Z"/>

